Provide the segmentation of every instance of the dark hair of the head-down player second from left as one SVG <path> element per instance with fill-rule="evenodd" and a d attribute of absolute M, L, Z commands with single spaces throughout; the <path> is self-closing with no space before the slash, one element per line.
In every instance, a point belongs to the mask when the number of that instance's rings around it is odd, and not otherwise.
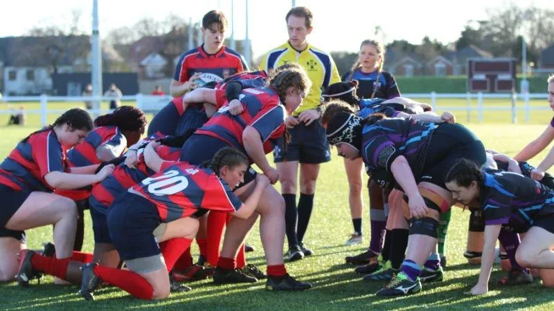
<path fill-rule="evenodd" d="M 140 131 L 146 126 L 146 117 L 141 109 L 120 106 L 113 113 L 97 117 L 94 126 L 117 126 L 121 131 Z"/>

